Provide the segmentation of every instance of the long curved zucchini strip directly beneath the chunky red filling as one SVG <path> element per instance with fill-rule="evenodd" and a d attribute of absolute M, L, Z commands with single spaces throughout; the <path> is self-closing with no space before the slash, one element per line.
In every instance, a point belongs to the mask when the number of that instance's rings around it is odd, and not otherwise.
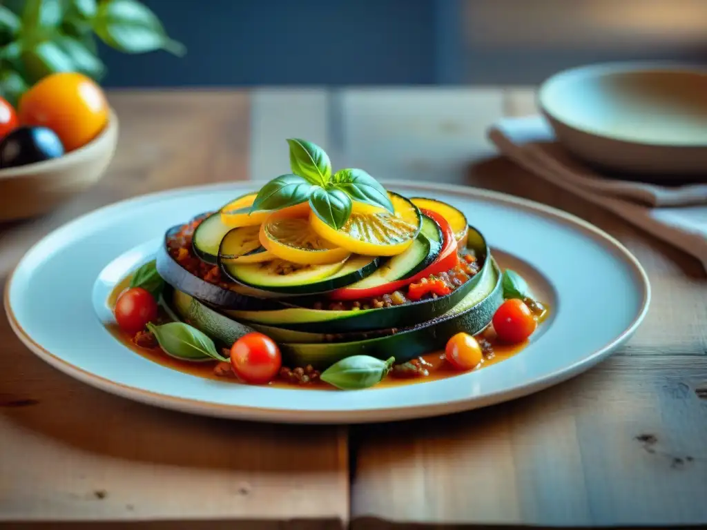
<path fill-rule="evenodd" d="M 283 302 L 283 308 L 273 311 L 226 310 L 225 314 L 248 324 L 267 324 L 297 331 L 339 334 L 349 331 L 410 326 L 433 319 L 460 302 L 479 282 L 481 273 L 491 266 L 491 253 L 484 236 L 469 227 L 467 248 L 481 262 L 481 270 L 452 293 L 407 302 L 403 305 L 358 311 L 315 310 L 294 303 Z"/>

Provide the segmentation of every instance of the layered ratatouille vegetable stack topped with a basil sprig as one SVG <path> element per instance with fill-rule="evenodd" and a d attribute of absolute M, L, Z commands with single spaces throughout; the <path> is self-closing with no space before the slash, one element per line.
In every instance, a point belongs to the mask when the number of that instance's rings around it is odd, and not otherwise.
<path fill-rule="evenodd" d="M 231 348 L 234 367 L 255 332 L 282 365 L 325 370 L 339 388 L 375 384 L 394 360 L 489 325 L 503 275 L 461 211 L 390 192 L 363 170 L 332 174 L 321 148 L 288 143 L 292 174 L 166 232 L 156 269 L 173 314 Z M 361 363 L 370 381 L 351 383 Z"/>

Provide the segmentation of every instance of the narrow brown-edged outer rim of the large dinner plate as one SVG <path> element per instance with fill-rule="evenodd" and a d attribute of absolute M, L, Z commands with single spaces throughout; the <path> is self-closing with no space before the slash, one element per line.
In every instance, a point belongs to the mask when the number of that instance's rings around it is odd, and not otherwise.
<path fill-rule="evenodd" d="M 46 348 L 41 346 L 39 343 L 35 342 L 34 339 L 27 333 L 18 322 L 16 315 L 14 314 L 11 303 L 10 303 L 10 290 L 13 284 L 13 279 L 15 277 L 16 271 L 23 266 L 25 258 L 30 252 L 33 252 L 35 247 L 39 246 L 45 240 L 56 237 L 64 230 L 71 230 L 74 225 L 83 223 L 83 220 L 89 216 L 96 215 L 100 212 L 109 211 L 112 208 L 121 208 L 123 206 L 139 203 L 142 201 L 151 201 L 158 197 L 160 198 L 170 198 L 170 196 L 180 196 L 184 194 L 189 194 L 189 192 L 213 192 L 220 188 L 230 188 L 236 185 L 247 185 L 252 183 L 253 187 L 256 187 L 259 183 L 267 182 L 266 180 L 247 180 L 247 181 L 236 181 L 236 182 L 216 182 L 212 184 L 205 185 L 194 185 L 186 187 L 178 187 L 169 190 L 162 190 L 158 192 L 152 192 L 149 194 L 144 194 L 140 196 L 131 197 L 128 199 L 123 199 L 122 201 L 117 201 L 112 204 L 107 204 L 105 206 L 100 206 L 92 211 L 84 213 L 83 215 L 75 218 L 61 225 L 52 232 L 42 237 L 39 241 L 35 242 L 24 254 L 23 257 L 18 261 L 18 264 L 13 268 L 10 276 L 5 284 L 4 289 L 4 308 L 8 317 L 8 322 L 10 324 L 13 332 L 20 338 L 20 340 L 27 346 L 27 348 L 35 353 L 39 358 L 45 360 L 49 365 L 57 368 L 59 371 L 64 372 L 74 379 L 89 384 L 92 387 L 98 388 L 103 391 L 107 391 L 110 394 L 120 396 L 122 398 L 132 399 L 133 401 L 138 401 L 144 404 L 149 404 L 152 406 L 157 406 L 159 408 L 166 408 L 175 411 L 182 411 L 187 413 L 198 414 L 201 416 L 212 416 L 221 418 L 232 418 L 240 420 L 254 420 L 259 422 L 267 423 L 298 423 L 298 424 L 360 424 L 360 423 L 378 423 L 381 421 L 399 421 L 399 420 L 409 420 L 413 418 L 428 418 L 432 416 L 446 416 L 452 413 L 458 413 L 461 411 L 469 411 L 475 408 L 483 408 L 493 404 L 502 403 L 504 401 L 512 401 L 513 399 L 518 399 L 522 396 L 527 396 L 529 394 L 534 394 L 536 391 L 547 389 L 554 384 L 566 381 L 575 377 L 579 373 L 588 370 L 590 367 L 597 365 L 602 360 L 611 355 L 617 348 L 622 346 L 626 341 L 633 336 L 641 325 L 645 315 L 648 313 L 650 307 L 651 299 L 651 288 L 648 274 L 641 266 L 638 259 L 627 249 L 619 240 L 617 240 L 612 235 L 609 235 L 604 230 L 598 228 L 592 223 L 575 216 L 572 213 L 568 213 L 554 206 L 548 206 L 546 204 L 539 203 L 537 201 L 531 201 L 530 199 L 523 199 L 521 197 L 513 196 L 503 192 L 496 192 L 495 190 L 482 189 L 472 186 L 462 186 L 460 184 L 440 184 L 431 182 L 404 182 L 401 180 L 385 179 L 381 180 L 381 184 L 388 187 L 403 187 L 406 189 L 415 189 L 416 191 L 432 191 L 432 192 L 448 192 L 462 194 L 467 197 L 472 198 L 489 198 L 496 203 L 506 204 L 506 206 L 520 207 L 526 210 L 534 211 L 535 213 L 544 214 L 544 216 L 550 216 L 554 218 L 559 218 L 563 220 L 568 225 L 574 225 L 574 228 L 581 228 L 586 232 L 590 232 L 595 235 L 597 241 L 601 242 L 602 245 L 607 246 L 607 249 L 612 248 L 620 254 L 620 259 L 626 264 L 631 265 L 633 269 L 633 274 L 636 279 L 640 281 L 642 292 L 641 294 L 641 309 L 637 312 L 636 317 L 631 321 L 631 324 L 617 335 L 612 341 L 605 344 L 601 348 L 588 355 L 587 357 L 576 361 L 571 365 L 566 365 L 554 372 L 546 375 L 535 377 L 534 379 L 529 379 L 522 384 L 514 387 L 510 390 L 499 390 L 491 392 L 490 394 L 484 394 L 483 396 L 477 396 L 474 398 L 457 399 L 455 401 L 450 401 L 444 404 L 428 404 L 424 406 L 395 406 L 387 408 L 375 408 L 375 409 L 359 409 L 359 410 L 332 410 L 332 411 L 316 411 L 316 410 L 298 410 L 297 414 L 292 414 L 290 410 L 286 408 L 264 408 L 257 406 L 239 406 L 239 405 L 228 405 L 228 404 L 218 404 L 212 401 L 204 401 L 199 399 L 187 399 L 180 396 L 171 396 L 168 394 L 162 394 L 160 392 L 141 389 L 137 387 L 132 387 L 127 384 L 122 384 L 113 381 L 112 379 L 107 379 L 100 375 L 95 375 L 92 372 L 83 370 L 83 368 L 78 367 L 59 357 L 58 355 L 48 351 Z M 338 416 L 338 417 L 337 417 Z M 342 416 L 344 416 L 342 418 Z"/>

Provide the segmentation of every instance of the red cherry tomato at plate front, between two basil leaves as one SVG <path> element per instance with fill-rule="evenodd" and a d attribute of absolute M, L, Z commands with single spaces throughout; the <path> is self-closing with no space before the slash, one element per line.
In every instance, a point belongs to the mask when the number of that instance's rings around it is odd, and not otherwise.
<path fill-rule="evenodd" d="M 280 371 L 282 357 L 277 344 L 262 333 L 247 333 L 230 347 L 235 375 L 247 383 L 264 384 Z"/>

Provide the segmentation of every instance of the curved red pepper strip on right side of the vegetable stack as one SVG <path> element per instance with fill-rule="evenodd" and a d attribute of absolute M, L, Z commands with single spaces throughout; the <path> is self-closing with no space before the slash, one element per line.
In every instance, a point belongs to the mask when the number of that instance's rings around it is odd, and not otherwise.
<path fill-rule="evenodd" d="M 344 287 L 333 290 L 329 293 L 329 298 L 332 300 L 366 300 L 366 298 L 376 298 L 382 295 L 389 295 L 390 293 L 394 293 L 396 290 L 407 287 L 407 285 L 410 285 L 413 282 L 419 281 L 421 278 L 426 278 L 431 274 L 439 274 L 440 272 L 448 271 L 449 269 L 455 267 L 459 263 L 459 257 L 457 256 L 457 240 L 454 237 L 452 227 L 447 220 L 445 220 L 445 218 L 440 216 L 439 213 L 426 209 L 421 209 L 420 211 L 429 218 L 432 218 L 438 225 L 440 225 L 440 228 L 442 229 L 443 245 L 435 261 L 415 276 L 411 276 L 411 278 L 390 281 L 388 283 L 383 283 L 382 285 L 369 287 L 367 289 L 352 289 Z"/>

